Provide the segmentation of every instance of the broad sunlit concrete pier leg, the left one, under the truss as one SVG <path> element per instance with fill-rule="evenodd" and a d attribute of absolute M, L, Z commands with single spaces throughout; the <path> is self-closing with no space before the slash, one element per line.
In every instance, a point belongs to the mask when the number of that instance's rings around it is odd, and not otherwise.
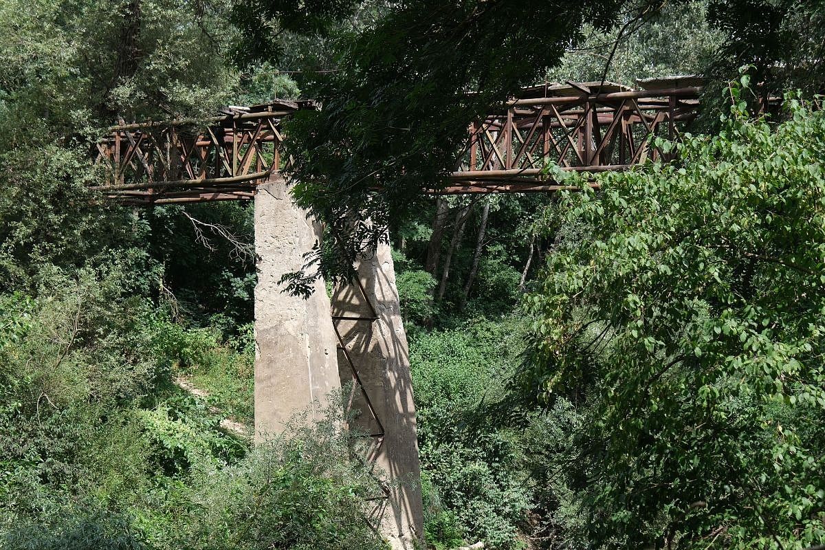
<path fill-rule="evenodd" d="M 280 175 L 255 197 L 255 440 L 280 433 L 301 411 L 320 420 L 329 393 L 341 388 L 337 336 L 323 281 L 309 299 L 282 292 L 281 275 L 304 265 L 320 237 L 306 212 L 293 204 Z"/>

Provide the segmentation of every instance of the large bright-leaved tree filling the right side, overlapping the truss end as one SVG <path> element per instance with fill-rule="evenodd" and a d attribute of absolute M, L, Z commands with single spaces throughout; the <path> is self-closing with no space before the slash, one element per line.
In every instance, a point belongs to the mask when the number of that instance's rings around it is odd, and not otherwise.
<path fill-rule="evenodd" d="M 519 380 L 581 416 L 555 468 L 600 546 L 825 541 L 825 116 L 743 106 L 549 218 Z"/>

